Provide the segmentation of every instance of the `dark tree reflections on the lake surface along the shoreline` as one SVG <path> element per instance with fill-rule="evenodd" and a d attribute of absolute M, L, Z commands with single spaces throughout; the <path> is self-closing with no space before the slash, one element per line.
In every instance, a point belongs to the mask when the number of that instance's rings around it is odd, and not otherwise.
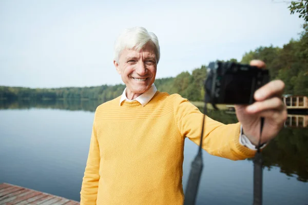
<path fill-rule="evenodd" d="M 0 109 L 49 108 L 61 110 L 84 110 L 94 112 L 100 101 L 93 100 L 0 100 Z M 200 110 L 202 110 L 200 108 Z M 208 116 L 230 124 L 237 122 L 234 112 L 208 111 Z M 279 167 L 280 172 L 308 181 L 308 115 L 288 115 L 285 128 L 264 149 L 264 167 L 271 170 Z M 248 159 L 251 160 L 251 159 Z"/>

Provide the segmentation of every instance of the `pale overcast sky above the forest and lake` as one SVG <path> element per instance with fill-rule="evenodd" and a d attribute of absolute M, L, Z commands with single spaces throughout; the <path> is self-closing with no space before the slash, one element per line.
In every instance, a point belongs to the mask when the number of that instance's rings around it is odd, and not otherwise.
<path fill-rule="evenodd" d="M 272 0 L 0 0 L 0 85 L 59 88 L 122 83 L 113 43 L 143 26 L 160 42 L 157 78 L 259 46 L 298 39 L 303 20 Z"/>

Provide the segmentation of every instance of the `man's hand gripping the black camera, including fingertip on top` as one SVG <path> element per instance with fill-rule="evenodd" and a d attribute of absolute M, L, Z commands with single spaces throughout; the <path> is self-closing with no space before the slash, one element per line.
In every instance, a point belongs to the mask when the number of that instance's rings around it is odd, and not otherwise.
<path fill-rule="evenodd" d="M 260 69 L 266 67 L 261 60 L 252 60 L 250 65 Z M 261 117 L 264 117 L 261 144 L 273 139 L 283 127 L 287 117 L 286 106 L 281 100 L 283 89 L 283 81 L 273 80 L 255 92 L 254 104 L 235 106 L 236 116 L 243 126 L 243 132 L 253 145 L 257 146 L 259 143 Z"/>

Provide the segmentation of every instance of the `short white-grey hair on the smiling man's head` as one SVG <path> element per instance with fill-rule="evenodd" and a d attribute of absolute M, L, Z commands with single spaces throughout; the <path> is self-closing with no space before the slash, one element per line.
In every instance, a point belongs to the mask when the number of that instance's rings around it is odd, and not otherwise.
<path fill-rule="evenodd" d="M 155 54 L 157 63 L 160 58 L 160 49 L 157 36 L 148 32 L 143 27 L 133 27 L 124 30 L 123 33 L 115 40 L 114 43 L 114 57 L 113 59 L 119 63 L 119 57 L 123 50 L 125 49 L 134 49 L 140 51 L 147 43 L 152 43 L 155 47 Z"/>

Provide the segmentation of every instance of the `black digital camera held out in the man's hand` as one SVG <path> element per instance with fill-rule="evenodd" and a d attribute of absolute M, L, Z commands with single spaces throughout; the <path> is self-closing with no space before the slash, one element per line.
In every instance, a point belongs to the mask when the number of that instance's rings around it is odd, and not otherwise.
<path fill-rule="evenodd" d="M 205 103 L 253 104 L 254 93 L 268 83 L 268 70 L 234 62 L 211 62 L 204 83 Z"/>

